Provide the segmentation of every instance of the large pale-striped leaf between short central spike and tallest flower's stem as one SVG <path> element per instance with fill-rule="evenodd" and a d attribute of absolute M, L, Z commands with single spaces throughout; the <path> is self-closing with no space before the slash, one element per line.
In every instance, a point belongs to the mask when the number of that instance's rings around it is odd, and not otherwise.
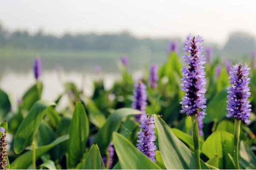
<path fill-rule="evenodd" d="M 159 116 L 154 115 L 158 131 L 158 143 L 167 169 L 196 169 L 194 153 L 181 142 Z M 209 169 L 201 161 L 202 169 Z"/>

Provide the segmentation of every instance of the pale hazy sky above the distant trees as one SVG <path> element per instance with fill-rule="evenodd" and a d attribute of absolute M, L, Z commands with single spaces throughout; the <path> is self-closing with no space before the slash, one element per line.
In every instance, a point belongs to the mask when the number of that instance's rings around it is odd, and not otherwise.
<path fill-rule="evenodd" d="M 200 34 L 223 44 L 233 31 L 256 36 L 256 0 L 0 0 L 10 30 L 113 33 L 139 37 Z"/>

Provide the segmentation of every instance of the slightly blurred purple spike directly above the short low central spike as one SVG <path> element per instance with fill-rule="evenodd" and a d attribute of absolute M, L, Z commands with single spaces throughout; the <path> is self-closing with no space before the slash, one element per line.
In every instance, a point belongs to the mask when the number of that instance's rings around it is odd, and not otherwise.
<path fill-rule="evenodd" d="M 141 111 L 141 114 L 145 114 L 145 109 L 147 105 L 147 94 L 146 86 L 142 81 L 139 81 L 134 86 L 134 102 L 132 103 L 132 108 Z M 137 122 L 140 122 L 141 114 L 136 115 Z"/>

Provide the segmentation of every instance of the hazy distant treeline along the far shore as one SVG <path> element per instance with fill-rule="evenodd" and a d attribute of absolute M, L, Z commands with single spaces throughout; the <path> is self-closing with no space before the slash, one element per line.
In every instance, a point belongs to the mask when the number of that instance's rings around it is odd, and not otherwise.
<path fill-rule="evenodd" d="M 145 49 L 152 52 L 163 52 L 173 39 L 170 38 L 137 38 L 128 32 L 119 34 L 64 34 L 57 37 L 38 31 L 10 32 L 0 25 L 0 48 L 57 49 L 57 50 L 91 50 L 131 52 Z M 176 39 L 182 49 L 181 39 Z M 230 34 L 222 49 L 212 45 L 216 54 L 247 55 L 256 51 L 256 40 L 250 34 L 236 32 Z"/>

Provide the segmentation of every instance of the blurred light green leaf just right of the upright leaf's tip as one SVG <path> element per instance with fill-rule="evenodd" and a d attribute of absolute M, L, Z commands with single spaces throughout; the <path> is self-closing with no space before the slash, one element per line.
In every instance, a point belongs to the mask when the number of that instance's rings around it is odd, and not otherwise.
<path fill-rule="evenodd" d="M 104 114 L 99 111 L 99 109 L 91 99 L 88 99 L 86 107 L 88 109 L 90 122 L 92 122 L 92 124 L 96 127 L 101 128 L 106 122 Z"/>

